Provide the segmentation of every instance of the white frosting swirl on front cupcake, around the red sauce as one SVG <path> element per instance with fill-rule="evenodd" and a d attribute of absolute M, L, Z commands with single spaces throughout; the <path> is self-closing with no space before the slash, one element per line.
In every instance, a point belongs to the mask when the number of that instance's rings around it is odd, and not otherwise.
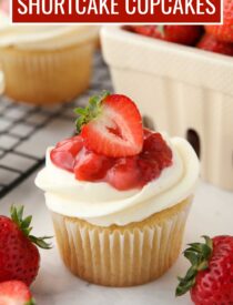
<path fill-rule="evenodd" d="M 190 196 L 199 177 L 199 160 L 191 145 L 173 138 L 172 166 L 164 169 L 159 179 L 141 190 L 118 191 L 108 183 L 80 182 L 72 173 L 53 165 L 51 148 L 45 167 L 36 184 L 45 191 L 49 210 L 79 217 L 92 224 L 110 226 L 142 221 Z"/>

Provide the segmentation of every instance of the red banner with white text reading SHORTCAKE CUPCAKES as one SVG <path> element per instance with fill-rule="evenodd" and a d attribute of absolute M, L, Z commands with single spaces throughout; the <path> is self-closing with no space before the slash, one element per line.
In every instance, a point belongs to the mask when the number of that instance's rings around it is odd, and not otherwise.
<path fill-rule="evenodd" d="M 221 0 L 11 0 L 12 22 L 221 23 Z"/>

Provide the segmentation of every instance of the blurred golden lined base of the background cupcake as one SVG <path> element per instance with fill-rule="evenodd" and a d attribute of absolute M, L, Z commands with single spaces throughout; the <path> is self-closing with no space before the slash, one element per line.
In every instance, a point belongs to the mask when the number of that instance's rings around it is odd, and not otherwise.
<path fill-rule="evenodd" d="M 89 87 L 95 42 L 58 50 L 0 49 L 4 93 L 17 101 L 70 101 Z"/>

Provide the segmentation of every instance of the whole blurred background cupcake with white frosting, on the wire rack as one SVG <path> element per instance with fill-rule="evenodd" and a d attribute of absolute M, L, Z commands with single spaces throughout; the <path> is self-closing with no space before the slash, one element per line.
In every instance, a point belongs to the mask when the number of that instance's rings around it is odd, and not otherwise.
<path fill-rule="evenodd" d="M 72 100 L 89 87 L 98 28 L 9 24 L 0 11 L 0 65 L 4 93 L 48 105 Z"/>

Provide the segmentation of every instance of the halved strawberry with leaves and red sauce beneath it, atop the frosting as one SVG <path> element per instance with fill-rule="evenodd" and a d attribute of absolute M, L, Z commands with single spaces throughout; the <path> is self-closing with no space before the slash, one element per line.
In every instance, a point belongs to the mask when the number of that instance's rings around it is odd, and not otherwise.
<path fill-rule="evenodd" d="M 120 191 L 141 189 L 172 164 L 172 151 L 160 133 L 143 130 L 129 98 L 103 92 L 75 112 L 79 135 L 59 142 L 50 157 L 77 180 L 107 182 Z"/>

